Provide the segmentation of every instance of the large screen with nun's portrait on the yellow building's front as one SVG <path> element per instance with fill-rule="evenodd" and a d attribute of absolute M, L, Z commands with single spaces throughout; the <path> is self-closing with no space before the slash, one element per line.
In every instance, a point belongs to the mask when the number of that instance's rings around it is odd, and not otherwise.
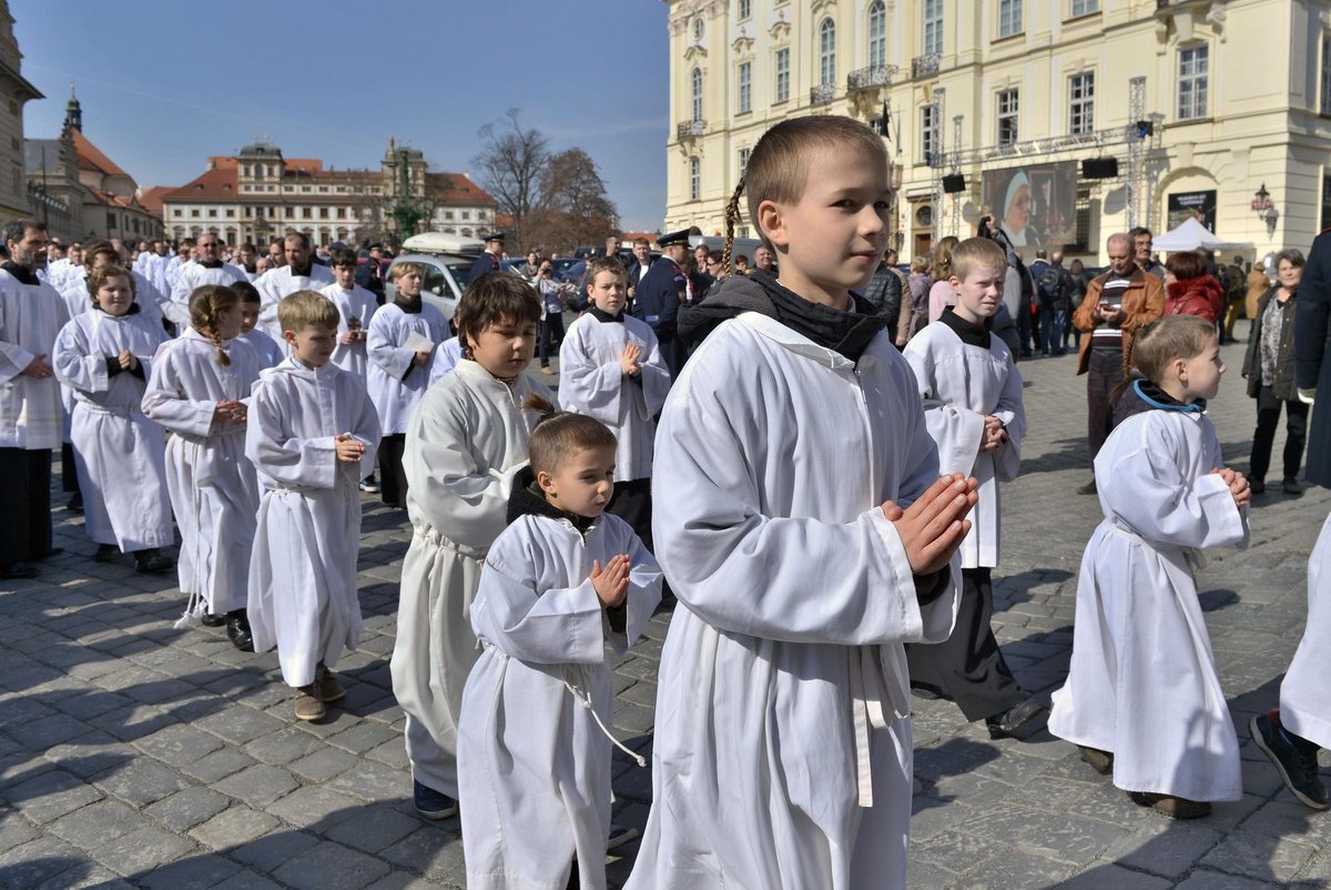
<path fill-rule="evenodd" d="M 1059 248 L 1077 241 L 1077 163 L 985 171 L 985 208 L 1016 248 Z M 1033 252 L 1025 252 L 1029 262 Z"/>

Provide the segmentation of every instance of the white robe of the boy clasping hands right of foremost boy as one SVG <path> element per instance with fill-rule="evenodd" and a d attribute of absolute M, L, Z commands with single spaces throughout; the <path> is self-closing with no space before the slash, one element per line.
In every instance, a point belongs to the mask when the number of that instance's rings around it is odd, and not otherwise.
<path fill-rule="evenodd" d="M 961 542 L 965 569 L 998 565 L 998 482 L 1017 478 L 1026 412 L 1021 404 L 1021 374 L 1012 353 L 994 333 L 990 348 L 968 346 L 945 324 L 930 324 L 906 344 L 929 436 L 938 444 L 938 470 L 974 476 L 980 501 L 970 510 L 970 532 Z M 1008 444 L 981 452 L 985 417 L 1008 425 Z"/>

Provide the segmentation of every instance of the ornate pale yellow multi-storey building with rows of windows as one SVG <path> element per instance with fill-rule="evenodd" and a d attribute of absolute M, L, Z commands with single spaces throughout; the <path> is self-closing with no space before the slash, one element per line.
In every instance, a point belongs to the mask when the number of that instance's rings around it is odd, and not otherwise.
<path fill-rule="evenodd" d="M 904 260 L 984 212 L 1089 257 L 1190 215 L 1256 256 L 1331 226 L 1331 0 L 666 1 L 664 230 L 723 232 L 757 139 L 815 113 L 885 133 Z"/>

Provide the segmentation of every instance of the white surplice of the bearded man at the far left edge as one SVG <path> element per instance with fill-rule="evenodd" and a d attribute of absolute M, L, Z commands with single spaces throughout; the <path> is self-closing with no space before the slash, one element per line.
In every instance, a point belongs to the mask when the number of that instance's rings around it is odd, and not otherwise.
<path fill-rule="evenodd" d="M 56 377 L 27 377 L 39 356 L 52 366 L 69 309 L 49 284 L 23 284 L 0 269 L 0 448 L 60 448 L 65 410 Z"/>

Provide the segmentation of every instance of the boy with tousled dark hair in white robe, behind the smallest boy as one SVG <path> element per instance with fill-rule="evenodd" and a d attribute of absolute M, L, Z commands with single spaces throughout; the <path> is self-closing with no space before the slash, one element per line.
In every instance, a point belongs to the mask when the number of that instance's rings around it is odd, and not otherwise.
<path fill-rule="evenodd" d="M 371 330 L 389 309 L 374 316 Z M 512 474 L 527 460 L 536 413 L 523 401 L 534 392 L 554 401 L 523 374 L 539 320 L 536 294 L 518 276 L 487 274 L 469 286 L 454 316 L 466 357 L 430 388 L 407 425 L 413 534 L 390 666 L 407 714 L 415 807 L 429 819 L 457 813 L 458 711 L 476 660 L 467 610 L 486 552 L 504 529 Z M 370 354 L 373 361 L 373 338 Z"/>

